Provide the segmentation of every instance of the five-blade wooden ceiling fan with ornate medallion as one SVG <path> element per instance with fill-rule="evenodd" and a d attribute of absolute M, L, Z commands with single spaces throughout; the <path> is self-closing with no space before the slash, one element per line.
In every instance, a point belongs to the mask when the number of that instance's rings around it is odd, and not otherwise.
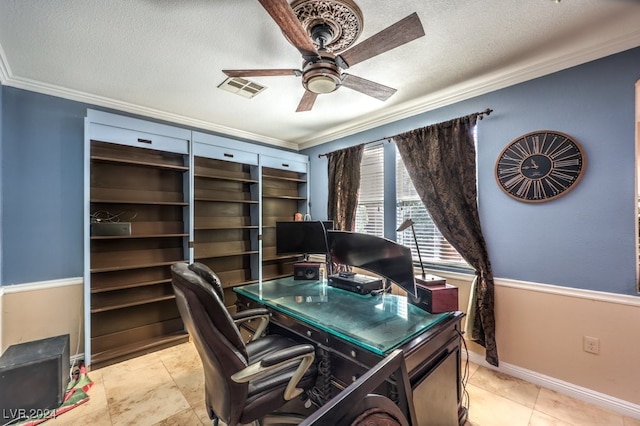
<path fill-rule="evenodd" d="M 325 6 L 328 3 L 336 5 L 335 13 L 322 12 L 326 11 Z M 340 86 L 386 101 L 396 92 L 396 89 L 343 73 L 342 70 L 425 35 L 420 18 L 414 12 L 342 52 L 344 46 L 340 48 L 334 45 L 335 39 L 340 39 L 341 35 L 347 33 L 357 36 L 359 31 L 351 30 L 355 30 L 356 27 L 362 28 L 361 25 L 355 25 L 362 23 L 362 14 L 353 0 L 293 0 L 292 4 L 289 4 L 289 0 L 260 0 L 260 4 L 280 27 L 285 38 L 302 55 L 302 69 L 245 69 L 223 70 L 223 72 L 227 76 L 238 77 L 280 75 L 302 77 L 305 92 L 296 112 L 309 111 L 317 95 L 334 92 Z M 349 6 L 353 6 L 358 11 L 355 15 L 351 14 L 354 19 L 333 19 L 337 16 L 347 18 L 339 10 L 344 11 L 344 8 L 348 9 Z M 354 25 L 347 25 L 347 23 Z M 336 56 L 336 52 L 342 53 Z"/>

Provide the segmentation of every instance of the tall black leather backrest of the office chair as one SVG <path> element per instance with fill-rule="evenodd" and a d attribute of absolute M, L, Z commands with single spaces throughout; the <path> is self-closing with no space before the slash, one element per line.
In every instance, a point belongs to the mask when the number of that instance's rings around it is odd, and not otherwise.
<path fill-rule="evenodd" d="M 200 355 L 207 407 L 229 424 L 238 422 L 248 384 L 231 376 L 248 365 L 247 349 L 224 303 L 186 263 L 171 267 L 180 316 Z"/>

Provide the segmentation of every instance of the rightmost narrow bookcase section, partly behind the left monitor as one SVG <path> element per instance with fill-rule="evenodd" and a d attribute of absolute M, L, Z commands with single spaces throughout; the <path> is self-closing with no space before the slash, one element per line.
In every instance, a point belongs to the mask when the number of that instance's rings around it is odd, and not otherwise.
<path fill-rule="evenodd" d="M 299 256 L 276 253 L 276 222 L 308 213 L 307 163 L 262 158 L 262 278 L 293 275 Z"/>

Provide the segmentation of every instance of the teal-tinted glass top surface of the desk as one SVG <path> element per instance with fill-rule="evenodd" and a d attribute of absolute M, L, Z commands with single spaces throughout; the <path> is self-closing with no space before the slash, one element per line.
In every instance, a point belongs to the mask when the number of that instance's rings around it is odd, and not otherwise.
<path fill-rule="evenodd" d="M 452 312 L 430 314 L 407 298 L 361 295 L 326 281 L 281 278 L 234 289 L 236 293 L 378 355 L 386 355 Z"/>

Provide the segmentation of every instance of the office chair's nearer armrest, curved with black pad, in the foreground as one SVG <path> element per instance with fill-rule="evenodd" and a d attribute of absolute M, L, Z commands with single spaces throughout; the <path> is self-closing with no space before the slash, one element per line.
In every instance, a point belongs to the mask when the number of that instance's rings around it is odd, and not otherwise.
<path fill-rule="evenodd" d="M 246 383 L 265 374 L 282 370 L 297 363 L 298 368 L 293 376 L 291 376 L 291 379 L 289 379 L 289 383 L 284 390 L 283 397 L 289 401 L 303 392 L 303 390 L 297 386 L 309 367 L 311 367 L 311 364 L 313 364 L 315 356 L 316 352 L 313 345 L 302 344 L 291 346 L 269 354 L 262 360 L 248 365 L 231 376 L 231 380 L 236 383 Z"/>

